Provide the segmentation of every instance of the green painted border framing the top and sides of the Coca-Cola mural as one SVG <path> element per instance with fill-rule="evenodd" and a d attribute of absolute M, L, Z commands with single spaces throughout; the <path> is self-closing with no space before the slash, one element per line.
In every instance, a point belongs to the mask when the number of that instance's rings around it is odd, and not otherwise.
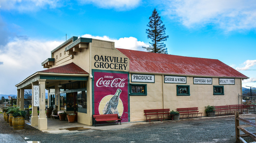
<path fill-rule="evenodd" d="M 95 72 L 107 72 L 107 73 L 123 73 L 123 74 L 127 74 L 127 82 L 128 82 L 128 85 L 127 85 L 127 95 L 129 95 L 129 91 L 130 91 L 130 74 L 129 72 L 126 72 L 126 71 L 108 71 L 108 70 L 96 70 L 96 69 L 92 69 L 92 75 L 94 77 L 94 73 Z M 130 122 L 130 96 L 127 97 L 128 99 L 128 122 Z M 95 95 L 94 95 L 94 78 L 92 78 L 92 115 L 95 114 Z"/>

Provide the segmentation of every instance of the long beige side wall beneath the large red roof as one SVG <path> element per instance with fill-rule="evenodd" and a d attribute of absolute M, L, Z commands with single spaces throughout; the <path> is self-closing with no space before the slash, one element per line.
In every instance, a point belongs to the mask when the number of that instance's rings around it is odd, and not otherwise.
<path fill-rule="evenodd" d="M 186 79 L 187 84 L 163 83 L 163 76 L 155 75 L 155 83 L 136 83 L 147 84 L 147 96 L 130 96 L 131 121 L 144 121 L 144 109 L 176 111 L 177 108 L 198 107 L 206 116 L 205 106 L 238 104 L 238 94 L 242 94 L 241 79 L 235 79 L 235 85 L 219 85 L 219 78 L 212 78 L 212 85 L 193 84 L 193 77 L 189 76 Z M 190 96 L 177 96 L 177 85 L 189 85 Z M 213 86 L 224 86 L 224 95 L 213 95 Z"/>

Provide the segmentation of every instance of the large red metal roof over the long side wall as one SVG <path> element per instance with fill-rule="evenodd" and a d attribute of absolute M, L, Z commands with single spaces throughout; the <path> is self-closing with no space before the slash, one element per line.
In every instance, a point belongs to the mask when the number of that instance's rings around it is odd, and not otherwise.
<path fill-rule="evenodd" d="M 217 59 L 117 50 L 130 59 L 131 72 L 248 78 Z"/>

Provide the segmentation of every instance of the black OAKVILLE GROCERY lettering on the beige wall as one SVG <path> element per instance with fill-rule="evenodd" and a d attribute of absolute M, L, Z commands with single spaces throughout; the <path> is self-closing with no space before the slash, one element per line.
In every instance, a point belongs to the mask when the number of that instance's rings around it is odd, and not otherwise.
<path fill-rule="evenodd" d="M 128 65 L 128 58 L 124 57 L 95 55 L 94 60 L 94 67 L 101 69 L 126 70 Z"/>

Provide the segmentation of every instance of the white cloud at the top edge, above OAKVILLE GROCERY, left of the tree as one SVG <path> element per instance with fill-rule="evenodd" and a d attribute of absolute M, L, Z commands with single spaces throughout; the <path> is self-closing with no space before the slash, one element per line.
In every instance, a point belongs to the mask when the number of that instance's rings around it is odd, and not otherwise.
<path fill-rule="evenodd" d="M 123 11 L 132 9 L 140 4 L 141 0 L 80 0 L 81 3 L 93 3 L 100 8 L 115 8 Z"/>

